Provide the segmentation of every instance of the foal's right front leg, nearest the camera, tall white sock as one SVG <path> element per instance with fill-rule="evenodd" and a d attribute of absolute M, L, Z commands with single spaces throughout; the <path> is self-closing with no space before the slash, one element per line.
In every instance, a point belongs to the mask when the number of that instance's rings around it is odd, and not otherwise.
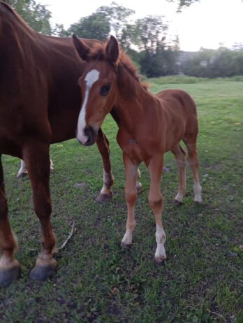
<path fill-rule="evenodd" d="M 154 212 L 156 220 L 156 252 L 154 260 L 157 265 L 161 265 L 166 259 L 165 254 L 165 231 L 162 224 L 163 196 L 161 194 L 161 174 L 163 169 L 163 157 L 156 156 L 149 162 L 150 189 L 149 205 Z"/>

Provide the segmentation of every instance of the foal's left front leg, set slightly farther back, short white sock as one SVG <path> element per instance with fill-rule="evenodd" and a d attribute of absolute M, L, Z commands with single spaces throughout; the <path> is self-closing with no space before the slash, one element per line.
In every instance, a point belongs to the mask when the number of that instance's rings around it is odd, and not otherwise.
<path fill-rule="evenodd" d="M 121 241 L 121 246 L 129 248 L 133 241 L 133 230 L 135 229 L 134 220 L 134 205 L 137 200 L 137 190 L 135 183 L 138 177 L 138 166 L 133 164 L 128 155 L 123 154 L 123 162 L 126 170 L 126 205 L 127 205 L 127 220 L 126 233 Z"/>

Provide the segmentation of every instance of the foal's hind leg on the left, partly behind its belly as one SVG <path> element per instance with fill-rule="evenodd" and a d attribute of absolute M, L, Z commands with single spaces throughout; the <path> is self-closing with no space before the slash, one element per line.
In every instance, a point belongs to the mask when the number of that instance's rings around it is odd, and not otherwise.
<path fill-rule="evenodd" d="M 175 204 L 180 204 L 183 201 L 184 194 L 186 192 L 186 152 L 181 145 L 177 145 L 172 153 L 175 155 L 179 171 L 179 189 L 177 196 L 175 196 Z"/>

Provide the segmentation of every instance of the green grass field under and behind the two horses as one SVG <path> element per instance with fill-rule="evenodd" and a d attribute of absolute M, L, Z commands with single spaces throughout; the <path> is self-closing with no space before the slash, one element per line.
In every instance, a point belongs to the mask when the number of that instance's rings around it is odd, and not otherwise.
<path fill-rule="evenodd" d="M 75 140 L 52 145 L 52 225 L 57 246 L 76 231 L 57 254 L 58 271 L 47 282 L 29 280 L 40 250 L 40 225 L 34 214 L 28 178 L 16 180 L 20 161 L 3 156 L 10 223 L 17 234 L 22 276 L 0 289 L 0 322 L 243 322 L 243 79 L 151 80 L 152 92 L 184 89 L 198 106 L 201 206 L 193 204 L 191 171 L 182 206 L 177 167 L 165 155 L 169 173 L 161 187 L 168 260 L 154 265 L 154 216 L 147 194 L 149 174 L 141 166 L 142 194 L 136 204 L 133 247 L 120 247 L 126 224 L 124 168 L 109 116 L 103 129 L 110 140 L 115 175 L 111 202 L 94 201 L 102 186 L 96 146 Z M 179 83 L 183 82 L 183 83 Z M 76 183 L 80 183 L 76 187 Z"/>

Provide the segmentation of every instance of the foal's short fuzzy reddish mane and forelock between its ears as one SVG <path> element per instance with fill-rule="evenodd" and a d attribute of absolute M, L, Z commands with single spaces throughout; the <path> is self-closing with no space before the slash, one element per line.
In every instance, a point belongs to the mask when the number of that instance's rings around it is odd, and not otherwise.
<path fill-rule="evenodd" d="M 87 59 L 90 61 L 98 60 L 109 62 L 109 59 L 105 54 L 106 44 L 107 43 L 97 43 L 94 48 L 91 48 L 89 51 Z M 137 80 L 142 87 L 148 89 L 148 85 L 142 82 L 141 76 L 138 74 L 138 69 L 134 66 L 131 58 L 121 49 L 119 50 L 119 60 L 117 64 L 122 64 L 124 69 L 126 69 L 126 71 L 128 71 L 128 73 L 130 73 L 130 75 L 133 76 L 133 78 L 135 78 L 135 80 Z"/>

